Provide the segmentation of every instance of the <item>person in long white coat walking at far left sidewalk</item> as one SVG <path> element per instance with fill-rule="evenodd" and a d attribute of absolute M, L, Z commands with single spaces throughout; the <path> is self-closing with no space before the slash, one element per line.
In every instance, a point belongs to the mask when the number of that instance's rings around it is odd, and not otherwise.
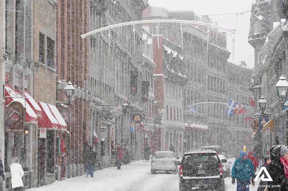
<path fill-rule="evenodd" d="M 20 191 L 23 190 L 23 181 L 22 176 L 24 175 L 24 171 L 22 169 L 22 166 L 19 164 L 18 157 L 12 158 L 12 164 L 10 166 L 11 170 L 11 183 L 12 188 L 14 191 Z"/>

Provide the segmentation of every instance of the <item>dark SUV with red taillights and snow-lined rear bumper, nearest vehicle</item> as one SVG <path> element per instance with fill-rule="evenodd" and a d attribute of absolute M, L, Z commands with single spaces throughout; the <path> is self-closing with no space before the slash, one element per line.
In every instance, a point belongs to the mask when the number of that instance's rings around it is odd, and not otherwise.
<path fill-rule="evenodd" d="M 179 167 L 179 191 L 224 191 L 223 166 L 214 150 L 190 150 L 184 153 Z"/>

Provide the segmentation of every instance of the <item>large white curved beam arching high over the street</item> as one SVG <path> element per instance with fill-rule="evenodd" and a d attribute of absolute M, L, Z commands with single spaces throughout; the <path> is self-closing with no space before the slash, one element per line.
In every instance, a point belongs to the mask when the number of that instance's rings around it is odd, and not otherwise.
<path fill-rule="evenodd" d="M 204 25 L 208 26 L 211 28 L 218 28 L 218 29 L 223 29 L 225 31 L 230 32 L 231 34 L 235 34 L 235 30 L 228 29 L 225 27 L 209 24 L 209 23 L 204 23 L 204 22 L 199 22 L 199 21 L 192 21 L 192 20 L 174 20 L 174 19 L 155 19 L 155 20 L 139 20 L 139 21 L 131 21 L 131 22 L 126 22 L 126 23 L 118 23 L 115 25 L 109 25 L 106 27 L 102 27 L 99 29 L 96 29 L 94 31 L 90 31 L 86 34 L 81 35 L 81 38 L 85 38 L 87 36 L 90 36 L 95 33 L 99 33 L 101 31 L 106 31 L 115 27 L 121 27 L 121 26 L 127 26 L 127 25 L 137 25 L 137 24 L 143 24 L 143 23 L 182 23 L 182 24 L 197 24 L 197 25 Z"/>

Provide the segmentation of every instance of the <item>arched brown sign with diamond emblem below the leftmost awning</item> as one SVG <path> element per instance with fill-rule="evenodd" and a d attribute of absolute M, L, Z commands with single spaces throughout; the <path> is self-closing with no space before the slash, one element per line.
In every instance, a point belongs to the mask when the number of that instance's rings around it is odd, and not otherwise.
<path fill-rule="evenodd" d="M 11 102 L 5 108 L 5 130 L 21 132 L 25 129 L 26 108 L 20 102 Z"/>

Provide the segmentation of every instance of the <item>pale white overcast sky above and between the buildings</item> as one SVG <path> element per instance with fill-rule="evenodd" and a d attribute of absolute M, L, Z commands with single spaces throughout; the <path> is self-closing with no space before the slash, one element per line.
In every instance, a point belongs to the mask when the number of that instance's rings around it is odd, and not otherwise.
<path fill-rule="evenodd" d="M 152 7 L 164 7 L 170 11 L 193 10 L 196 15 L 216 15 L 244 12 L 251 10 L 253 0 L 148 0 Z M 229 62 L 240 65 L 243 60 L 248 67 L 254 67 L 254 49 L 248 43 L 250 13 L 238 14 L 238 22 L 235 35 L 235 60 L 232 54 Z M 235 15 L 217 15 L 211 18 L 218 22 L 219 26 L 235 29 Z M 227 49 L 232 53 L 232 37 L 227 36 Z"/>

